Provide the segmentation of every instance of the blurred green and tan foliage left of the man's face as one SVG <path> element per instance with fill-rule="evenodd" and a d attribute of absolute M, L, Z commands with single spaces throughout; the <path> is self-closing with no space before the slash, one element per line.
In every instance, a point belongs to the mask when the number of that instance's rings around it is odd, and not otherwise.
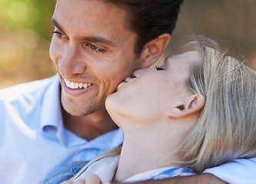
<path fill-rule="evenodd" d="M 0 1 L 0 87 L 55 74 L 48 56 L 52 0 Z"/>

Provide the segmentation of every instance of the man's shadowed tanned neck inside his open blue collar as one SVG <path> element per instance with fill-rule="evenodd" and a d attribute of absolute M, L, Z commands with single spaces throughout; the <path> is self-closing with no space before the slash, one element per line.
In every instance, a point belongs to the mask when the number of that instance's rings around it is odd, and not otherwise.
<path fill-rule="evenodd" d="M 67 130 L 88 141 L 118 128 L 106 110 L 75 117 L 62 109 L 62 117 Z"/>

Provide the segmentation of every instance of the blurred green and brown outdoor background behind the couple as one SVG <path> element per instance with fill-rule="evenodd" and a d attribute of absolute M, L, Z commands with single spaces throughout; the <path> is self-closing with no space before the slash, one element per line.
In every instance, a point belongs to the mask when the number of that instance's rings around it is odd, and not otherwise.
<path fill-rule="evenodd" d="M 0 89 L 55 74 L 48 54 L 54 5 L 54 0 L 0 1 Z M 188 35 L 204 35 L 256 69 L 255 20 L 256 0 L 185 0 L 163 58 Z"/>

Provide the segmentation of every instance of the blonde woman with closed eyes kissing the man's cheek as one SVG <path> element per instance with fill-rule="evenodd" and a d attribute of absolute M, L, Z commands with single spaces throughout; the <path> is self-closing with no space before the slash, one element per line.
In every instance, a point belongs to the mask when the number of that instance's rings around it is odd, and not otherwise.
<path fill-rule="evenodd" d="M 188 176 L 256 156 L 255 71 L 218 49 L 193 48 L 118 85 L 106 107 L 125 134 L 121 153 L 100 156 L 71 181 Z"/>

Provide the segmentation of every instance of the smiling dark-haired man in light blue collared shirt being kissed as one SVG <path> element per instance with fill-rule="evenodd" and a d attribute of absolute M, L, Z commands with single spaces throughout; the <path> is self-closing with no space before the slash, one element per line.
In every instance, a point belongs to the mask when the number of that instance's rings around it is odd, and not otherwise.
<path fill-rule="evenodd" d="M 181 2 L 56 2 L 50 56 L 58 75 L 0 92 L 1 183 L 38 183 L 57 166 L 121 145 L 105 98 L 132 71 L 158 60 Z M 70 176 L 77 171 L 69 170 Z"/>

